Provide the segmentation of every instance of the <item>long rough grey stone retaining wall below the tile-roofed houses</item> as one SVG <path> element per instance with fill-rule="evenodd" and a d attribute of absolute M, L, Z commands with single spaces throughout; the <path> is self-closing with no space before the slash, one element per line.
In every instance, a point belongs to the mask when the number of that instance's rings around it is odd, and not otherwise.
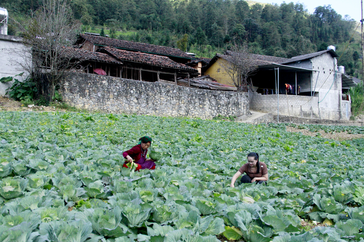
<path fill-rule="evenodd" d="M 64 101 L 87 110 L 195 118 L 249 114 L 247 93 L 210 91 L 76 72 L 67 72 L 61 83 Z"/>

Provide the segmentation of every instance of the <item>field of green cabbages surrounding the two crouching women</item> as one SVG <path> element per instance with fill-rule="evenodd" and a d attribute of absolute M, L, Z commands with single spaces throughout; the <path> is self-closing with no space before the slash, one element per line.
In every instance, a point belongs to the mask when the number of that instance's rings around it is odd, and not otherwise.
<path fill-rule="evenodd" d="M 1 112 L 0 242 L 363 242 L 364 139 L 285 128 Z M 144 135 L 162 153 L 156 169 L 122 168 L 122 152 Z M 267 165 L 268 185 L 230 188 L 251 151 Z M 302 220 L 327 226 L 309 230 Z"/>

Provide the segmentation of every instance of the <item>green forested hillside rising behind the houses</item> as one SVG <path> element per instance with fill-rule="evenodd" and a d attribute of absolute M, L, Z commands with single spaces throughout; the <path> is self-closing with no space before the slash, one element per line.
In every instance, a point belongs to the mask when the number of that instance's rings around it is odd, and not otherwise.
<path fill-rule="evenodd" d="M 26 18 L 41 0 L 2 0 L 10 17 Z M 244 0 L 72 0 L 70 5 L 83 32 L 97 32 L 124 40 L 177 47 L 198 56 L 244 41 L 254 53 L 293 57 L 335 45 L 341 55 L 357 23 L 330 6 L 310 15 L 301 3 L 254 4 Z M 16 33 L 13 24 L 10 31 Z M 339 65 L 359 75 L 360 36 L 350 41 Z"/>

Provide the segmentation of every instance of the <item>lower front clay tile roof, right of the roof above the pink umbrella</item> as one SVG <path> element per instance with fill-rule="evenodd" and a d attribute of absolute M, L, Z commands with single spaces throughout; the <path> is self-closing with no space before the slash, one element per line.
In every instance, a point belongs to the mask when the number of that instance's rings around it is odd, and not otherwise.
<path fill-rule="evenodd" d="M 112 56 L 118 58 L 119 60 L 133 61 L 139 62 L 143 64 L 149 64 L 154 66 L 162 66 L 174 69 L 185 69 L 189 70 L 189 72 L 198 72 L 196 69 L 186 66 L 185 64 L 177 63 L 172 61 L 170 58 L 166 56 L 158 56 L 153 54 L 147 54 L 142 52 L 134 52 L 127 50 L 120 50 L 110 46 L 100 48 L 98 51 L 107 52 Z"/>

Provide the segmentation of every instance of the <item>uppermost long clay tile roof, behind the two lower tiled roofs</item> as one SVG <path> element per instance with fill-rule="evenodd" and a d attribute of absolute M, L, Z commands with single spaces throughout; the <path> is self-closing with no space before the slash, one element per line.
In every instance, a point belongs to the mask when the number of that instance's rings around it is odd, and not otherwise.
<path fill-rule="evenodd" d="M 175 49 L 160 45 L 151 45 L 133 41 L 117 40 L 113 38 L 101 37 L 92 34 L 80 34 L 80 37 L 92 42 L 95 45 L 112 46 L 115 48 L 127 49 L 132 51 L 148 52 L 152 54 L 161 54 L 164 56 L 175 56 L 188 59 L 194 59 L 180 49 Z"/>

